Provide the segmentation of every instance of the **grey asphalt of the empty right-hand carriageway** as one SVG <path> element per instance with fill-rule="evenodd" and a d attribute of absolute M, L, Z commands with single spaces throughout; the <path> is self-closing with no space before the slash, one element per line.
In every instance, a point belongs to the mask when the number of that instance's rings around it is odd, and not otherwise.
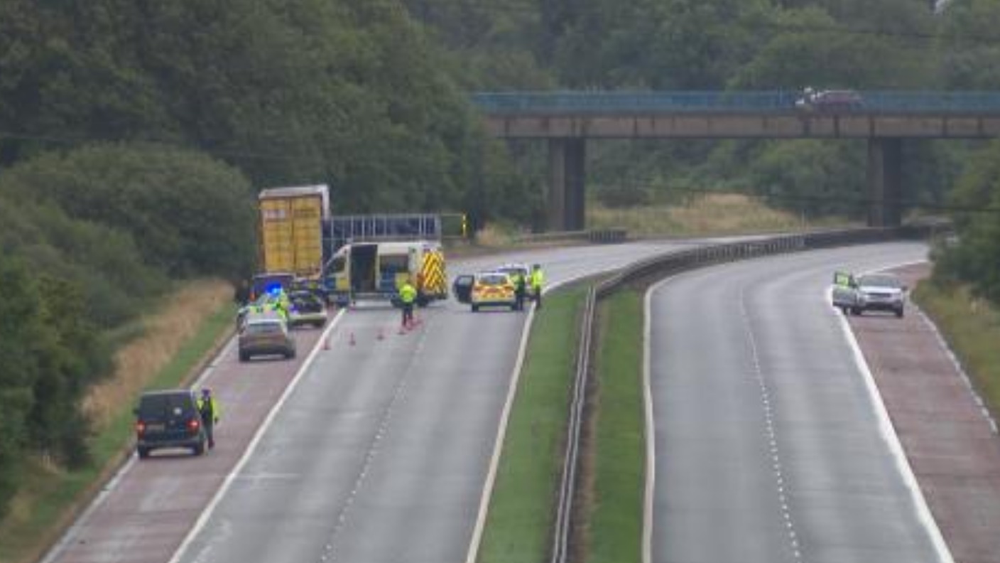
<path fill-rule="evenodd" d="M 653 561 L 937 560 L 826 296 L 834 269 L 925 255 L 916 243 L 854 246 L 658 286 Z"/>

